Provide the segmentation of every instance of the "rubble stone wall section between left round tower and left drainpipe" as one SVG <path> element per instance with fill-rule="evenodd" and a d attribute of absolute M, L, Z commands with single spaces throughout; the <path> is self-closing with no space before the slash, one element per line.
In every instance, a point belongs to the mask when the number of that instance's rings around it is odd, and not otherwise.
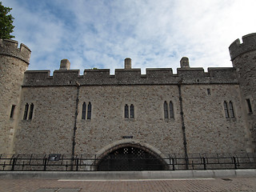
<path fill-rule="evenodd" d="M 26 103 L 34 104 L 31 120 L 24 120 Z M 14 152 L 71 154 L 76 87 L 23 88 Z"/>

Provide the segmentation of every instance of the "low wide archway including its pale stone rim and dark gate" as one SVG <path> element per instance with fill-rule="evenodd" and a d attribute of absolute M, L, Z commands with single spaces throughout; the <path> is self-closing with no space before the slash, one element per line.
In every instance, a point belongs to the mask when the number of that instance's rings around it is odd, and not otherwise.
<path fill-rule="evenodd" d="M 167 170 L 168 168 L 159 154 L 135 142 L 119 143 L 110 147 L 98 157 L 94 165 L 96 170 L 102 171 Z"/>

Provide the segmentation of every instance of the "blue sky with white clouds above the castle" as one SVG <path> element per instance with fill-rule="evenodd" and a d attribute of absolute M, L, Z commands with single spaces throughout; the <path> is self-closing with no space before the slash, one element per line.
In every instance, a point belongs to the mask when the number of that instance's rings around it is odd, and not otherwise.
<path fill-rule="evenodd" d="M 228 47 L 256 32 L 255 0 L 2 0 L 14 40 L 32 51 L 28 70 L 97 67 L 231 67 Z M 241 40 L 242 42 L 242 40 Z"/>

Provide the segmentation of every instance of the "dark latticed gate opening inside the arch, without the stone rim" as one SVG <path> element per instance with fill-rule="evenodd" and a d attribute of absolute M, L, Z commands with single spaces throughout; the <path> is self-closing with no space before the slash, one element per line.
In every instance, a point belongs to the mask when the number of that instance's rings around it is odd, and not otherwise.
<path fill-rule="evenodd" d="M 137 147 L 127 146 L 107 154 L 98 163 L 97 170 L 166 170 L 166 165 L 154 154 Z"/>

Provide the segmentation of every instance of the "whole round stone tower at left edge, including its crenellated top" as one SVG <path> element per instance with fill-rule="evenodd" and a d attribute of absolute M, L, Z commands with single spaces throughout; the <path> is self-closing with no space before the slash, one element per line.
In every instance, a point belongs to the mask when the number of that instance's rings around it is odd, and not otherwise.
<path fill-rule="evenodd" d="M 13 153 L 22 82 L 30 53 L 23 44 L 18 48 L 18 42 L 0 39 L 0 154 Z"/>

